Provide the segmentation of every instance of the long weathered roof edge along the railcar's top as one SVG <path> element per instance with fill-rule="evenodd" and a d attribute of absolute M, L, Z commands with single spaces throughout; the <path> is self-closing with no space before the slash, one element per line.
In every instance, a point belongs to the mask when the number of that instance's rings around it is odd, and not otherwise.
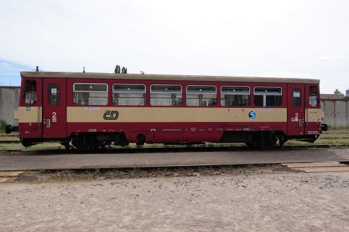
<path fill-rule="evenodd" d="M 199 75 L 157 75 L 157 74 L 115 74 L 101 72 L 20 72 L 22 77 L 38 78 L 87 78 L 87 79 L 146 79 L 165 81 L 195 82 L 270 82 L 319 84 L 319 79 L 281 78 L 281 77 L 231 77 L 231 76 L 199 76 Z"/>

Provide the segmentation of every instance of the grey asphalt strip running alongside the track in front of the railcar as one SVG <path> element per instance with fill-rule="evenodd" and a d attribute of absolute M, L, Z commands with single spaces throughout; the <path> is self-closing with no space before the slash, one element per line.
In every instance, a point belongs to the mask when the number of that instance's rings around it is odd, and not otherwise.
<path fill-rule="evenodd" d="M 349 161 L 349 149 L 0 155 L 0 171 Z"/>

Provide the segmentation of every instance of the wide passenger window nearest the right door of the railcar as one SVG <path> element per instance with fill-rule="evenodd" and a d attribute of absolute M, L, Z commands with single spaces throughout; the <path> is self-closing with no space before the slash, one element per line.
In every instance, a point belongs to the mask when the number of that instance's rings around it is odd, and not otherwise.
<path fill-rule="evenodd" d="M 282 104 L 281 87 L 255 87 L 254 103 L 256 107 L 280 107 Z"/>

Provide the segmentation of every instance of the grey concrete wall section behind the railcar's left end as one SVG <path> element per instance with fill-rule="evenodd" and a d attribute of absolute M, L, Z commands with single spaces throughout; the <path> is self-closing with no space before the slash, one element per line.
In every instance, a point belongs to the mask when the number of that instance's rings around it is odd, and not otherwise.
<path fill-rule="evenodd" d="M 20 101 L 20 87 L 1 86 L 0 87 L 0 120 L 6 124 L 17 125 L 17 120 L 13 114 Z"/>

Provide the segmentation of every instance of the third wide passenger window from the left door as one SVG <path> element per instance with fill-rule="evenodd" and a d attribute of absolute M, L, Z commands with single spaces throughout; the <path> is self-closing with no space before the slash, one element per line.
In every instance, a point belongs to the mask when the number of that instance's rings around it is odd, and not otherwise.
<path fill-rule="evenodd" d="M 182 103 L 181 86 L 153 84 L 150 86 L 150 105 L 180 106 Z"/>

